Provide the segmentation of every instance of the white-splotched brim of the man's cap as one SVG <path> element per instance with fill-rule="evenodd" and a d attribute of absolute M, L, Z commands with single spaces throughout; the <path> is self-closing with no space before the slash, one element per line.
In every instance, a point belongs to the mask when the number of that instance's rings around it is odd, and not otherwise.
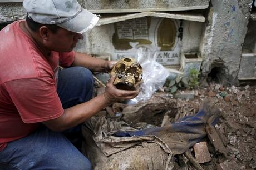
<path fill-rule="evenodd" d="M 92 29 L 99 21 L 99 19 L 100 18 L 97 17 L 95 14 L 82 8 L 81 12 L 78 13 L 76 17 L 68 21 L 59 23 L 57 24 L 57 26 L 67 29 L 71 32 L 82 34 Z"/>

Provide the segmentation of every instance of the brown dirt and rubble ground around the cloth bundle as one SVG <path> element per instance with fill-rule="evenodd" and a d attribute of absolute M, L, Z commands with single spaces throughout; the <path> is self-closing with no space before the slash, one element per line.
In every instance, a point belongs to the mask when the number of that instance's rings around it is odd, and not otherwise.
<path fill-rule="evenodd" d="M 199 88 L 195 90 L 178 91 L 186 97 L 194 96 L 190 99 L 175 98 L 169 93 L 169 89 L 164 87 L 157 95 L 174 98 L 183 108 L 183 114 L 170 118 L 170 122 L 176 119 L 198 112 L 200 104 L 205 97 L 211 99 L 221 110 L 221 116 L 215 126 L 220 138 L 227 149 L 228 157 L 215 151 L 215 147 L 207 137 L 204 141 L 208 144 L 211 161 L 201 163 L 203 169 L 256 169 L 256 86 L 223 87 L 219 84 L 211 84 L 208 88 Z M 191 95 L 192 94 L 192 95 Z M 103 112 L 107 114 L 108 112 Z M 160 112 L 159 112 L 160 113 Z M 102 113 L 101 113 L 102 114 Z M 115 113 L 114 113 L 115 114 Z M 161 125 L 161 119 L 154 122 L 154 126 Z M 192 151 L 192 149 L 191 149 Z M 193 153 L 193 151 L 192 151 Z M 231 162 L 230 162 L 231 161 Z M 187 161 L 188 169 L 195 169 L 195 166 Z M 184 169 L 177 163 L 176 169 Z M 186 169 L 186 168 L 185 168 Z M 225 168 L 222 168 L 225 169 Z M 225 170 L 226 170 L 225 169 Z"/>

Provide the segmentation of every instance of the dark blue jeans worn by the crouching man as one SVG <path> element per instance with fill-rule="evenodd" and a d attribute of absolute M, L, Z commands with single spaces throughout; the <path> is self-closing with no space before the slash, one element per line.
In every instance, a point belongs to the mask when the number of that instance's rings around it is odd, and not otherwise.
<path fill-rule="evenodd" d="M 90 100 L 92 73 L 83 67 L 63 69 L 59 72 L 57 93 L 63 108 Z M 65 134 L 77 133 L 79 129 L 80 126 L 68 129 Z M 63 133 L 53 132 L 42 125 L 29 136 L 9 142 L 0 151 L 0 169 L 78 170 L 91 169 L 91 163 Z"/>

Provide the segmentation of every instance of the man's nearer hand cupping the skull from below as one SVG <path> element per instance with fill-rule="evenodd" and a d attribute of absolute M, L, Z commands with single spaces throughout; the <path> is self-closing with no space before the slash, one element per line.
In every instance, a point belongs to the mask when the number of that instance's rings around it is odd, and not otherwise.
<path fill-rule="evenodd" d="M 117 101 L 125 101 L 127 99 L 132 99 L 135 98 L 139 92 L 140 88 L 137 88 L 135 91 L 124 91 L 117 89 L 114 86 L 114 81 L 115 81 L 116 76 L 111 76 L 109 82 L 107 83 L 104 97 L 106 100 L 109 102 L 109 104 L 117 102 Z"/>

